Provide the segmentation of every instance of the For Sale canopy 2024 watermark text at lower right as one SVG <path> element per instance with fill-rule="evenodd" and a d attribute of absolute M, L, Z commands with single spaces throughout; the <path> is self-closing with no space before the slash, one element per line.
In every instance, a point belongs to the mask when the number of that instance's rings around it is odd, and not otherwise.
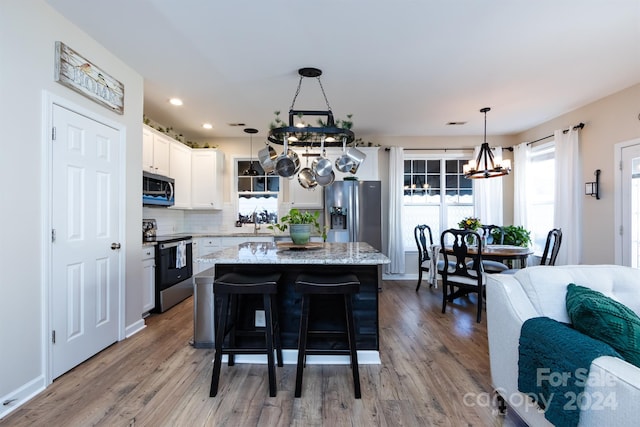
<path fill-rule="evenodd" d="M 496 402 L 500 395 L 509 406 L 524 408 L 525 410 L 540 410 L 539 406 L 548 408 L 553 399 L 562 398 L 565 411 L 572 410 L 615 410 L 618 407 L 615 391 L 616 378 L 608 372 L 594 371 L 589 375 L 589 369 L 578 368 L 573 372 L 552 371 L 550 368 L 536 370 L 536 385 L 550 386 L 550 390 L 558 392 L 544 393 L 512 393 L 508 395 L 504 389 L 496 389 L 496 395 L 490 393 L 467 393 L 463 397 L 465 406 L 500 407 Z M 582 391 L 565 390 L 567 387 L 579 387 Z M 587 388 L 588 386 L 588 388 Z M 529 398 L 527 398 L 529 397 Z M 535 402 L 538 402 L 536 404 Z"/>

